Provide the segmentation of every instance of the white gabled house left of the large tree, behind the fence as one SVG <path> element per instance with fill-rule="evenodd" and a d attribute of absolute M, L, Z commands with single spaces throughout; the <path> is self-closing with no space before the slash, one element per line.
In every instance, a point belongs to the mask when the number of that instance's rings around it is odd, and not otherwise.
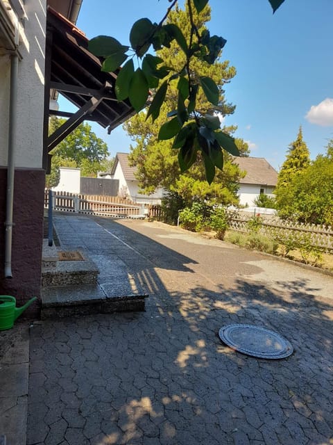
<path fill-rule="evenodd" d="M 128 161 L 127 153 L 117 153 L 110 173 L 106 177 L 119 179 L 119 196 L 128 197 L 134 202 L 140 204 L 160 204 L 164 195 L 163 188 L 157 188 L 151 195 L 139 193 L 139 181 L 135 177 L 137 168 L 132 167 Z M 103 175 L 100 174 L 100 175 Z M 105 176 L 104 176 L 105 177 Z"/>

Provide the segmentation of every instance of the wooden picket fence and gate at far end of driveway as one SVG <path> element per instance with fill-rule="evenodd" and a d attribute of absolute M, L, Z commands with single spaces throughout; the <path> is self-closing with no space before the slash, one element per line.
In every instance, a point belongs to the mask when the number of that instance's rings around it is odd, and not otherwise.
<path fill-rule="evenodd" d="M 44 207 L 49 207 L 49 191 L 44 194 Z M 115 196 L 78 195 L 69 192 L 52 192 L 52 208 L 57 211 L 110 216 L 112 218 L 145 218 L 145 204 L 135 204 Z"/>

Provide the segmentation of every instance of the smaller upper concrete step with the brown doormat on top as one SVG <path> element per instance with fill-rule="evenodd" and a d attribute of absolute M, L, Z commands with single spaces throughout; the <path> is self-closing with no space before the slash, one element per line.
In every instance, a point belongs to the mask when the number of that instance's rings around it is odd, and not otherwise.
<path fill-rule="evenodd" d="M 99 269 L 89 259 L 58 261 L 54 267 L 42 268 L 42 287 L 96 284 L 98 275 Z"/>

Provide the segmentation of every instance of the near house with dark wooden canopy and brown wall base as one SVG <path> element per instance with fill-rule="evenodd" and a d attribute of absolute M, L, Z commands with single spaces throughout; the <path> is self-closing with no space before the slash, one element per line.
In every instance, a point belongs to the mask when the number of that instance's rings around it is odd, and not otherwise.
<path fill-rule="evenodd" d="M 19 305 L 40 298 L 51 150 L 84 120 L 111 131 L 135 113 L 75 26 L 81 3 L 0 0 L 0 293 Z M 50 110 L 58 92 L 75 113 Z M 49 135 L 51 113 L 68 119 Z"/>

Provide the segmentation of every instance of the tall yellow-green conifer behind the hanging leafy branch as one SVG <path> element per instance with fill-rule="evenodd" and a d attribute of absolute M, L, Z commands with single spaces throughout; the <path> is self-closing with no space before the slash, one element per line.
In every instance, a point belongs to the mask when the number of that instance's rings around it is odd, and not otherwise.
<path fill-rule="evenodd" d="M 198 34 L 203 33 L 206 29 L 205 24 L 209 20 L 208 6 L 199 14 L 194 14 Z M 177 24 L 185 38 L 189 39 L 190 22 L 187 8 L 185 10 L 176 8 L 169 14 L 168 22 Z M 161 57 L 167 66 L 178 67 L 178 70 L 186 63 L 185 54 L 175 41 L 171 42 L 169 48 L 164 47 L 157 51 L 157 56 Z M 197 112 L 201 116 L 208 115 L 213 120 L 218 120 L 222 115 L 232 114 L 234 106 L 226 101 L 223 87 L 236 74 L 234 67 L 230 67 L 227 60 L 210 65 L 204 60 L 195 58 L 189 70 L 193 78 L 211 77 L 219 88 L 219 103 L 215 106 L 207 101 L 202 90 L 198 91 Z M 237 165 L 232 164 L 231 156 L 224 153 L 223 171 L 218 170 L 214 181 L 209 185 L 205 179 L 205 170 L 199 153 L 194 165 L 187 172 L 180 174 L 178 149 L 173 149 L 173 141 L 158 140 L 158 132 L 167 118 L 167 113 L 178 106 L 178 79 L 175 79 L 169 84 L 161 113 L 155 122 L 152 123 L 151 118 L 146 120 L 146 113 L 142 112 L 125 124 L 126 131 L 136 143 L 131 147 L 130 161 L 133 165 L 137 165 L 137 177 L 142 190 L 145 193 L 152 193 L 157 186 L 163 186 L 170 191 L 179 192 L 187 201 L 191 196 L 196 196 L 198 199 L 210 196 L 225 204 L 236 203 L 237 184 L 241 173 Z M 224 130 L 228 131 L 228 128 Z M 229 131 L 234 131 L 234 128 L 230 128 Z M 236 142 L 239 150 L 245 155 L 248 154 L 248 145 L 243 140 Z"/>

